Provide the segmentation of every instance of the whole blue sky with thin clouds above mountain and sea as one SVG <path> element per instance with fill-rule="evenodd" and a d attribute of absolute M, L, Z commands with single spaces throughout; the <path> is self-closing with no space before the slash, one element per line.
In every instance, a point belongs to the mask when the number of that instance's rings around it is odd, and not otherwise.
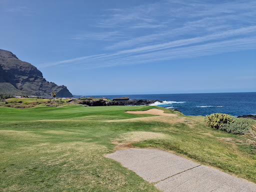
<path fill-rule="evenodd" d="M 72 94 L 256 91 L 255 0 L 0 0 L 0 48 Z"/>

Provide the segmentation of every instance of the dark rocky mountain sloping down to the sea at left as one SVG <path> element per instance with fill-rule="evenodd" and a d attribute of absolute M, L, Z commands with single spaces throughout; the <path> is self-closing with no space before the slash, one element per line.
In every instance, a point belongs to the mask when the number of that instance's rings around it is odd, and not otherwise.
<path fill-rule="evenodd" d="M 1 94 L 51 97 L 52 91 L 55 91 L 58 97 L 72 97 L 66 86 L 46 81 L 35 66 L 19 60 L 8 50 L 0 49 Z"/>

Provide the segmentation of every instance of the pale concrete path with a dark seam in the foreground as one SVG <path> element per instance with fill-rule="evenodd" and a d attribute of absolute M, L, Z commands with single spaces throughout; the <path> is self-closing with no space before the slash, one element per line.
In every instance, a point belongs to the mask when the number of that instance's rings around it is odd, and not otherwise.
<path fill-rule="evenodd" d="M 173 153 L 152 148 L 128 148 L 106 154 L 162 191 L 255 192 L 256 184 Z"/>

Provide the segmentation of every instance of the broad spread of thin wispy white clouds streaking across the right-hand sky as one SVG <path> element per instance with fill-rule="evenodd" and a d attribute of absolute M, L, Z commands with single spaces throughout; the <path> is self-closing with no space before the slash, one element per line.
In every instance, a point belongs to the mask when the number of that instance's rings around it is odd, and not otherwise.
<path fill-rule="evenodd" d="M 97 32 L 72 37 L 100 40 L 100 51 L 41 66 L 106 67 L 253 49 L 255 10 L 254 0 L 163 0 L 107 9 L 92 22 Z"/>

